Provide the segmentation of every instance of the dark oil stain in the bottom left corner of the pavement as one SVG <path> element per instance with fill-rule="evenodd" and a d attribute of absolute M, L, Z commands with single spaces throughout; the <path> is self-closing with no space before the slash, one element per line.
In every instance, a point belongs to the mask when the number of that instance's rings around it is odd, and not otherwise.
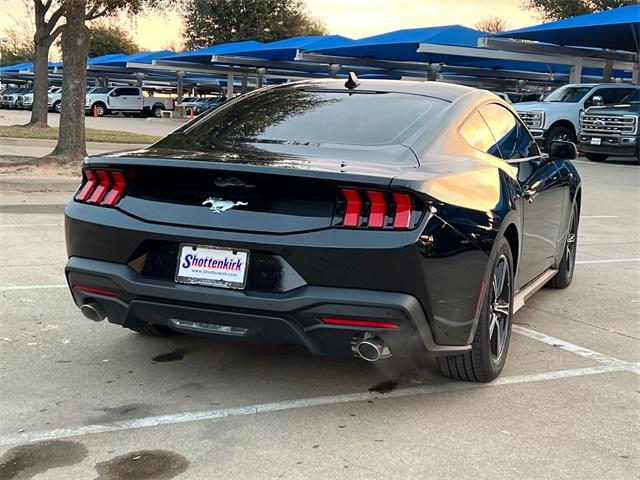
<path fill-rule="evenodd" d="M 26 480 L 53 468 L 75 465 L 82 462 L 87 453 L 83 444 L 65 440 L 20 445 L 0 458 L 0 480 Z"/>

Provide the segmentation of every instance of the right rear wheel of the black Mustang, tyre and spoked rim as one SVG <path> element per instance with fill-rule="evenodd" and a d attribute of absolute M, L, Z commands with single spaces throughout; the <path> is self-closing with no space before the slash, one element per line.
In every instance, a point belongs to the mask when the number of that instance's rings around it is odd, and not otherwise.
<path fill-rule="evenodd" d="M 500 240 L 485 289 L 482 311 L 471 350 L 438 357 L 442 373 L 455 380 L 490 382 L 504 368 L 513 321 L 513 256 L 506 239 Z"/>

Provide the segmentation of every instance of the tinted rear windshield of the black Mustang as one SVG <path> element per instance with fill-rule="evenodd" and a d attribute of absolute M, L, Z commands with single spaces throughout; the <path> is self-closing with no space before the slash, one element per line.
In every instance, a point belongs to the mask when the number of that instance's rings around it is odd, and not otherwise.
<path fill-rule="evenodd" d="M 404 93 L 279 88 L 239 99 L 184 129 L 196 146 L 232 143 L 388 145 L 432 121 L 447 102 Z"/>

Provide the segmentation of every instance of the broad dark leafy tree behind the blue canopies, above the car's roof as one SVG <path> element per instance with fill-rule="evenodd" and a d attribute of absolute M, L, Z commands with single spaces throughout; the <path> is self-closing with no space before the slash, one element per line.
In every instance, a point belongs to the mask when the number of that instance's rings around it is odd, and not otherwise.
<path fill-rule="evenodd" d="M 185 11 L 187 49 L 327 33 L 322 21 L 307 13 L 303 0 L 187 0 Z"/>

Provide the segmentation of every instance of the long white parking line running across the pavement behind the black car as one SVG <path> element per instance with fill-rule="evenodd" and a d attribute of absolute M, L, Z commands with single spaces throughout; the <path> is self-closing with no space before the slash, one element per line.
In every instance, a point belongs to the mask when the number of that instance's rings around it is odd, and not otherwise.
<path fill-rule="evenodd" d="M 135 418 L 118 422 L 102 423 L 96 425 L 84 425 L 74 428 L 61 428 L 55 430 L 45 430 L 40 432 L 28 432 L 13 436 L 0 437 L 0 446 L 25 444 L 42 440 L 53 440 L 61 438 L 79 437 L 97 433 L 109 433 L 122 430 L 137 430 L 141 428 L 151 428 L 161 425 L 177 425 L 184 423 L 200 422 L 205 420 L 216 420 L 220 418 L 242 417 L 256 415 L 260 413 L 282 412 L 288 410 L 299 410 L 302 408 L 318 407 L 325 405 L 347 404 L 353 402 L 363 402 L 375 399 L 405 398 L 419 395 L 433 395 L 462 390 L 475 390 L 480 388 L 493 388 L 502 385 L 517 385 L 524 383 L 543 382 L 548 380 L 559 380 L 564 378 L 584 377 L 589 375 L 599 375 L 611 372 L 625 372 L 639 369 L 640 364 L 608 364 L 598 367 L 576 368 L 571 370 L 560 370 L 555 372 L 534 373 L 530 375 L 514 375 L 510 377 L 499 377 L 491 383 L 471 383 L 452 382 L 441 385 L 429 385 L 425 387 L 404 388 L 381 394 L 374 392 L 347 393 L 343 395 L 330 395 L 323 397 L 301 398 L 298 400 L 286 400 L 274 403 L 262 403 L 248 405 L 246 407 L 228 408 L 219 410 L 209 410 L 201 412 L 185 412 L 171 415 L 159 415 L 154 417 Z"/>

